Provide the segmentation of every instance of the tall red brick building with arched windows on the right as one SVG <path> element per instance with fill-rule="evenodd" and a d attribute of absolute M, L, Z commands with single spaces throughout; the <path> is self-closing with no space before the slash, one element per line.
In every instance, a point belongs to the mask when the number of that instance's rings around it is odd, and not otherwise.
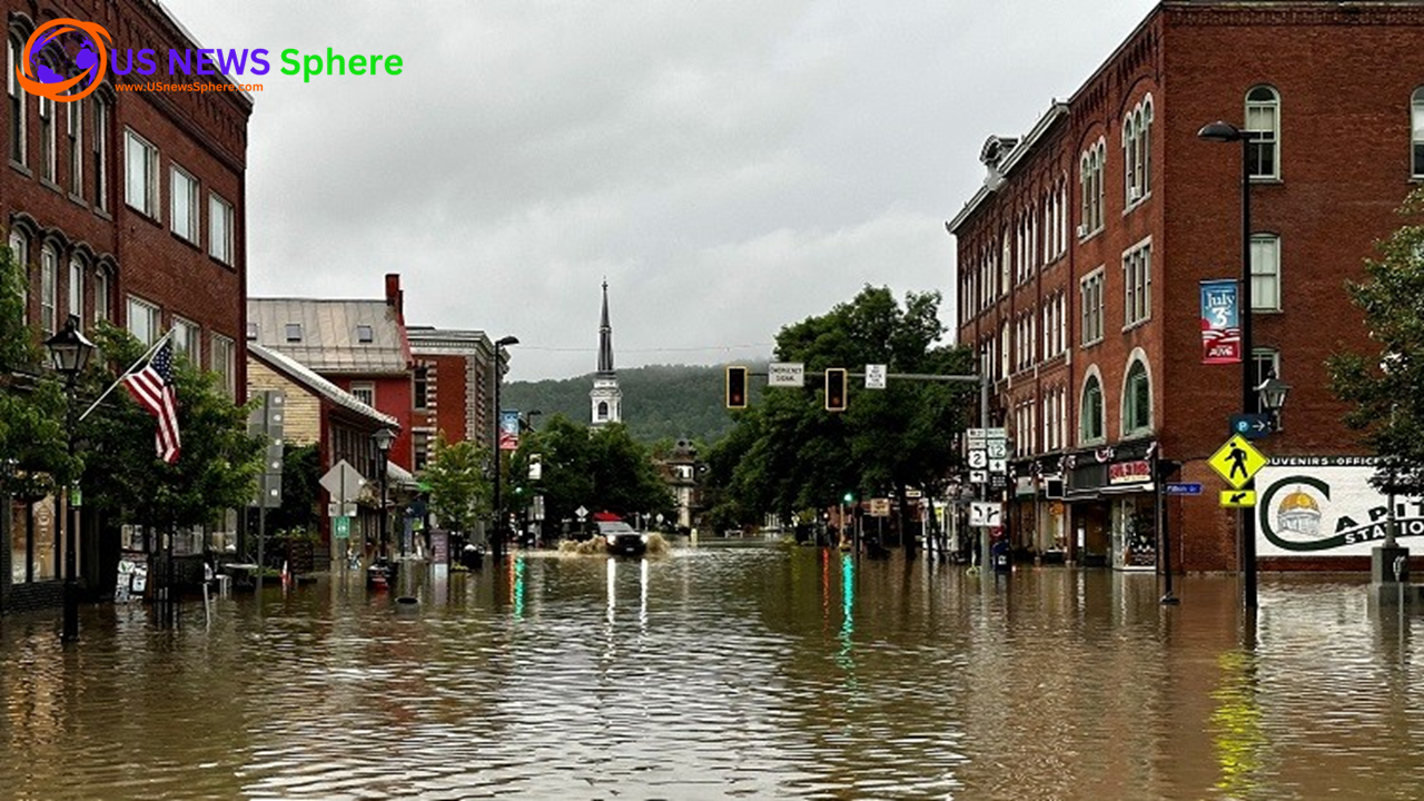
<path fill-rule="evenodd" d="M 1165 523 L 1175 567 L 1239 567 L 1237 515 L 1218 507 L 1225 483 L 1205 460 L 1242 412 L 1242 369 L 1203 363 L 1199 298 L 1202 281 L 1242 274 L 1243 158 L 1247 358 L 1292 385 L 1260 448 L 1361 453 L 1324 361 L 1367 348 L 1343 284 L 1424 180 L 1420 41 L 1417 3 L 1166 0 L 1027 135 L 988 138 L 988 178 L 947 225 L 958 341 L 993 376 L 1014 443 L 1017 546 L 1151 567 Z M 1198 137 L 1216 120 L 1250 134 L 1249 155 Z M 1159 515 L 1163 477 L 1206 495 Z"/>

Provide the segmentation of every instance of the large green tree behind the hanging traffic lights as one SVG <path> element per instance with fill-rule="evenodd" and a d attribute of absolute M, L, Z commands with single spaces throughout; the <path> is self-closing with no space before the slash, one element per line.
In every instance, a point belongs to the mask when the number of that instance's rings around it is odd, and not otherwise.
<path fill-rule="evenodd" d="M 938 304 L 937 292 L 911 292 L 900 305 L 889 288 L 866 286 L 826 315 L 782 328 L 776 361 L 803 362 L 806 386 L 768 389 L 709 455 L 721 523 L 762 513 L 789 519 L 833 506 L 846 492 L 904 505 L 907 487 L 944 487 L 957 462 L 950 443 L 975 408 L 974 383 L 891 379 L 886 389 L 863 389 L 852 381 L 844 413 L 824 410 L 822 383 L 827 368 L 860 372 L 867 363 L 891 373 L 973 373 L 965 349 L 937 345 L 944 334 Z"/>

